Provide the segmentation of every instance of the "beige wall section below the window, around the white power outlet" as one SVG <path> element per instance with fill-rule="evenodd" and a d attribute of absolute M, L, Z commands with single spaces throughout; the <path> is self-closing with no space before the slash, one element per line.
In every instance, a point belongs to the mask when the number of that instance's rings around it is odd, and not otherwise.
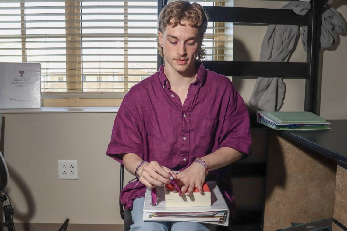
<path fill-rule="evenodd" d="M 4 117 L 6 191 L 15 222 L 122 223 L 119 163 L 105 155 L 115 113 Z M 78 180 L 59 180 L 58 160 L 77 160 Z"/>

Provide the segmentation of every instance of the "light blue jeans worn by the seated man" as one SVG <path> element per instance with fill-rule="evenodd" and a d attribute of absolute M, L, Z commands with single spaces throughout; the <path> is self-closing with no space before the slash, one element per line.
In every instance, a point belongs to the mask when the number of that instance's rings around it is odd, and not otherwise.
<path fill-rule="evenodd" d="M 134 224 L 130 225 L 130 231 L 209 231 L 215 230 L 217 225 L 203 224 L 191 221 L 143 221 L 143 204 L 145 198 L 136 198 L 133 202 L 133 210 L 130 212 Z"/>

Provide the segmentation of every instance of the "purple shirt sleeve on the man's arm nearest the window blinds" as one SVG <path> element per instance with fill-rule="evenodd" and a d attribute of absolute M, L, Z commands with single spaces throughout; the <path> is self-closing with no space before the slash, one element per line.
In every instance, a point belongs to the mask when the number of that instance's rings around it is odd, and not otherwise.
<path fill-rule="evenodd" d="M 135 153 L 143 159 L 143 139 L 138 113 L 126 95 L 113 124 L 106 154 L 123 164 L 124 153 Z"/>

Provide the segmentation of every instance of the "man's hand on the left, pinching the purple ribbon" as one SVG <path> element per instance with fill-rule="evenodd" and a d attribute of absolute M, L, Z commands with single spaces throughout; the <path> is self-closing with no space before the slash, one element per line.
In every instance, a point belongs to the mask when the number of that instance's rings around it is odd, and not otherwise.
<path fill-rule="evenodd" d="M 170 180 L 177 179 L 172 170 L 159 165 L 157 161 L 144 163 L 137 169 L 137 174 L 140 176 L 140 182 L 150 188 L 170 184 Z"/>

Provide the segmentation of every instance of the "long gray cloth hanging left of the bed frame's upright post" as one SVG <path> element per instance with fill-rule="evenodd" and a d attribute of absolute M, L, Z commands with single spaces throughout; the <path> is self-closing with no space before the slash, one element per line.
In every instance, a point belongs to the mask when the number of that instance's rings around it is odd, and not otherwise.
<path fill-rule="evenodd" d="M 281 9 L 292 9 L 296 14 L 305 15 L 310 10 L 309 2 L 291 1 Z M 269 25 L 260 51 L 260 61 L 287 62 L 299 35 L 297 25 Z M 282 78 L 258 77 L 249 105 L 254 111 L 275 111 L 283 105 L 286 85 Z"/>

